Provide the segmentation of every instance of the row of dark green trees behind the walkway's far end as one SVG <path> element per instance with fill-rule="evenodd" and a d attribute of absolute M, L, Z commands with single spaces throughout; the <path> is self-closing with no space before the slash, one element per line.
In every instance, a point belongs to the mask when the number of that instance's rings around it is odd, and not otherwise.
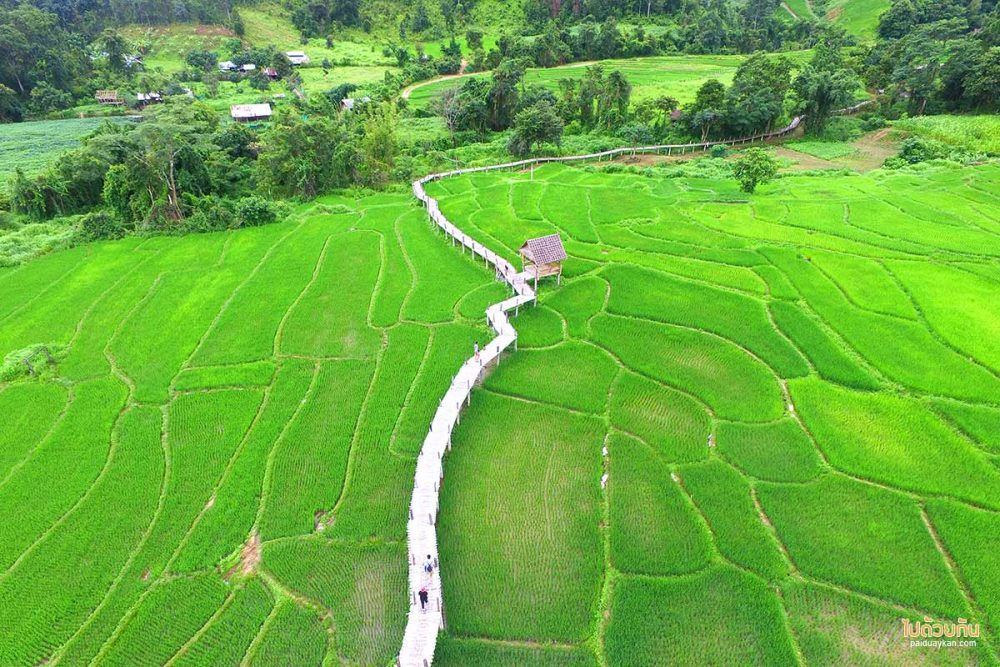
<path fill-rule="evenodd" d="M 564 132 L 617 136 L 631 145 L 707 142 L 768 132 L 791 113 L 809 117 L 808 131 L 823 134 L 834 111 L 849 106 L 861 81 L 837 44 L 819 45 L 794 71 L 780 55 L 756 53 L 737 68 L 730 86 L 710 79 L 693 102 L 669 96 L 632 102 L 632 85 L 618 70 L 595 64 L 553 91 L 527 84 L 530 61 L 504 60 L 490 77 L 466 79 L 436 103 L 456 143 L 513 129 L 508 148 L 525 155 Z"/>

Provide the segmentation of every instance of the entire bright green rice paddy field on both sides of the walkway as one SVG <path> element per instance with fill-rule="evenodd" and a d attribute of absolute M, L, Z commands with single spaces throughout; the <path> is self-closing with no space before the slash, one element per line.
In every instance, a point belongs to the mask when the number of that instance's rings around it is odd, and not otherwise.
<path fill-rule="evenodd" d="M 1000 167 L 657 173 L 432 186 L 571 255 L 455 433 L 436 664 L 996 664 Z M 388 664 L 505 294 L 404 194 L 0 269 L 0 356 L 57 359 L 0 381 L 0 664 Z"/>

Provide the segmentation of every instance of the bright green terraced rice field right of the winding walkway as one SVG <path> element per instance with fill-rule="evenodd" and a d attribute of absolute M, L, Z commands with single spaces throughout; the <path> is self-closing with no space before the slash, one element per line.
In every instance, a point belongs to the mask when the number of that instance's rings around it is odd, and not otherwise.
<path fill-rule="evenodd" d="M 1000 167 L 429 191 L 571 255 L 455 433 L 440 664 L 996 662 Z"/>

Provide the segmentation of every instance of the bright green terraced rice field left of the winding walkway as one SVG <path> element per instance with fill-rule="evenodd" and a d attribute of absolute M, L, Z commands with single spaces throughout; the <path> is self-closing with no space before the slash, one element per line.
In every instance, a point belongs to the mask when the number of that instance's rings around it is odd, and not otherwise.
<path fill-rule="evenodd" d="M 0 664 L 385 665 L 490 276 L 406 195 L 0 270 Z"/>

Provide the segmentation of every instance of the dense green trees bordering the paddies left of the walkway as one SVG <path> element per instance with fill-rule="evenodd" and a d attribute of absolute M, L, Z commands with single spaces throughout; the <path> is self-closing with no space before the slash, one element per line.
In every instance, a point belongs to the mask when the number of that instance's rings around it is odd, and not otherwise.
<path fill-rule="evenodd" d="M 326 98 L 257 130 L 177 98 L 138 123 L 106 123 L 41 174 L 18 170 L 11 209 L 31 220 L 86 214 L 92 238 L 271 222 L 274 201 L 398 178 L 396 110 L 342 114 Z"/>

